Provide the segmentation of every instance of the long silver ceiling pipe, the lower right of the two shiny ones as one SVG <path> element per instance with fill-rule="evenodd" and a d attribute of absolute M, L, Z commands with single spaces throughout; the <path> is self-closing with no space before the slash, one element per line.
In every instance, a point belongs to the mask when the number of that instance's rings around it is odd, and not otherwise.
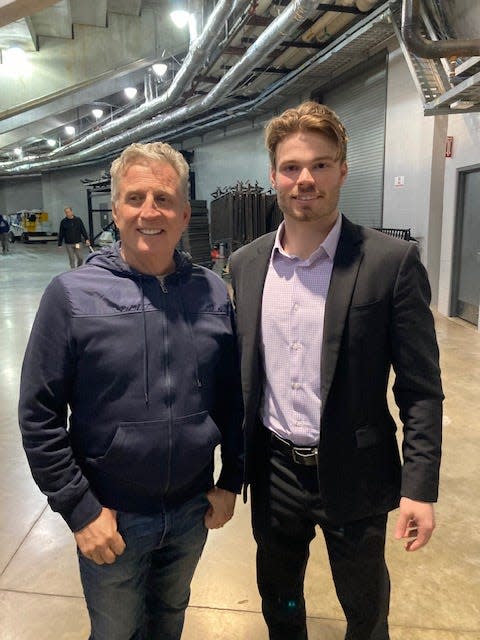
<path fill-rule="evenodd" d="M 296 31 L 299 24 L 313 18 L 318 13 L 317 4 L 318 0 L 293 0 L 290 2 L 249 47 L 243 58 L 225 73 L 219 83 L 206 96 L 168 113 L 162 113 L 158 117 L 143 122 L 133 129 L 124 131 L 89 149 L 84 149 L 68 156 L 38 161 L 24 159 L 24 161 L 20 162 L 0 163 L 0 175 L 29 173 L 31 171 L 57 169 L 68 165 L 91 162 L 132 142 L 153 135 L 158 136 L 166 127 L 173 126 L 178 122 L 184 122 L 197 114 L 218 107 L 242 79 L 279 46 L 279 35 L 281 35 L 282 39 L 286 36 L 288 37 Z"/>

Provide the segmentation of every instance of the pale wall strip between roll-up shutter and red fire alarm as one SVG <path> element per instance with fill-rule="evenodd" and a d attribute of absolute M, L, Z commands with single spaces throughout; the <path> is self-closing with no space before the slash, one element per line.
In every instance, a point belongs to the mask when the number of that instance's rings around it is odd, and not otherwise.
<path fill-rule="evenodd" d="M 409 227 L 419 240 L 434 304 L 438 300 L 447 124 L 446 116 L 423 115 L 422 101 L 403 54 L 400 49 L 391 51 L 383 226 Z"/>

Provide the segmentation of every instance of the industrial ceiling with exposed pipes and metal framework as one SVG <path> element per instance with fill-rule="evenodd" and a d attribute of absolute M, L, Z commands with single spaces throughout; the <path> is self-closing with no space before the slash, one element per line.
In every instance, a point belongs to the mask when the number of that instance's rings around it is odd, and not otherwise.
<path fill-rule="evenodd" d="M 292 96 L 326 90 L 391 39 L 400 40 L 426 114 L 480 110 L 478 41 L 462 41 L 467 48 L 448 59 L 414 53 L 401 0 L 189 0 L 194 22 L 183 30 L 170 21 L 174 4 L 3 2 L 0 175 L 96 162 L 134 141 L 180 144 L 262 117 Z M 403 5 L 417 49 L 455 39 L 437 0 Z M 12 46 L 26 52 L 30 76 L 6 73 Z M 160 62 L 163 76 L 152 70 Z M 126 87 L 137 90 L 133 99 Z"/>

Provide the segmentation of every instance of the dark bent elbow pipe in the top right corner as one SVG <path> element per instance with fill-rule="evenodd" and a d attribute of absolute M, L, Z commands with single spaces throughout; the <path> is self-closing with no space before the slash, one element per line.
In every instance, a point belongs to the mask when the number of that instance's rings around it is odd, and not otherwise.
<path fill-rule="evenodd" d="M 421 31 L 420 0 L 403 0 L 402 37 L 420 58 L 459 58 L 480 55 L 480 40 L 429 40 Z"/>

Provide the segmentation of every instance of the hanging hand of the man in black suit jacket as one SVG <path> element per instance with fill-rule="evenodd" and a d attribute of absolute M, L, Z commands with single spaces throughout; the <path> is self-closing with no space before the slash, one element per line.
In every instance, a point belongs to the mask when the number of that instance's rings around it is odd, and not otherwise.
<path fill-rule="evenodd" d="M 419 502 L 410 498 L 400 500 L 400 515 L 395 527 L 395 538 L 408 538 L 407 551 L 425 546 L 435 529 L 435 513 L 431 502 Z"/>

